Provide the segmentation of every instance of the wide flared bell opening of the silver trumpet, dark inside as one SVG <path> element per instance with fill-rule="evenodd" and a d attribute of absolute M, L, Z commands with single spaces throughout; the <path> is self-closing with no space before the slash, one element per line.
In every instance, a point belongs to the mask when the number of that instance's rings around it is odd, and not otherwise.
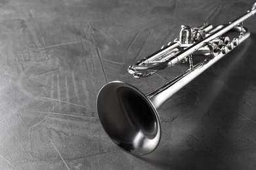
<path fill-rule="evenodd" d="M 98 93 L 100 122 L 114 143 L 134 155 L 149 154 L 158 146 L 161 126 L 158 112 L 137 88 L 110 82 Z"/>

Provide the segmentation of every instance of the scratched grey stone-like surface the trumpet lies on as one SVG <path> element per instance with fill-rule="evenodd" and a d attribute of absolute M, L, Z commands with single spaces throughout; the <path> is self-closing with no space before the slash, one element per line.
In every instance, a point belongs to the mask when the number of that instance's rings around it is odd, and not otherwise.
<path fill-rule="evenodd" d="M 150 92 L 184 65 L 134 79 L 127 67 L 179 37 L 228 23 L 252 0 L 0 1 L 0 169 L 256 169 L 256 17 L 251 37 L 159 110 L 160 146 L 120 150 L 96 113 L 112 80 Z M 139 106 L 138 106 L 139 107 Z"/>

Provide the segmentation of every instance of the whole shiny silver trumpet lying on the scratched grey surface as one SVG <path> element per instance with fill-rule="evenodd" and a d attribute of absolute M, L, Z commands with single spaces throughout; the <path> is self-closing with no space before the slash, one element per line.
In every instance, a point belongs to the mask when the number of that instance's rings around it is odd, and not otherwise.
<path fill-rule="evenodd" d="M 250 35 L 243 26 L 244 20 L 256 13 L 256 3 L 229 24 L 203 24 L 200 27 L 182 25 L 179 40 L 169 42 L 161 50 L 128 68 L 135 78 L 150 76 L 177 63 L 189 62 L 190 68 L 167 84 L 150 92 L 140 90 L 125 82 L 114 81 L 103 86 L 98 93 L 96 107 L 98 117 L 108 136 L 126 152 L 134 155 L 149 154 L 156 149 L 161 138 L 161 124 L 157 109 L 174 93 L 196 78 L 236 48 Z M 237 38 L 224 37 L 229 31 L 237 32 Z M 196 65 L 192 55 L 205 56 Z"/>

